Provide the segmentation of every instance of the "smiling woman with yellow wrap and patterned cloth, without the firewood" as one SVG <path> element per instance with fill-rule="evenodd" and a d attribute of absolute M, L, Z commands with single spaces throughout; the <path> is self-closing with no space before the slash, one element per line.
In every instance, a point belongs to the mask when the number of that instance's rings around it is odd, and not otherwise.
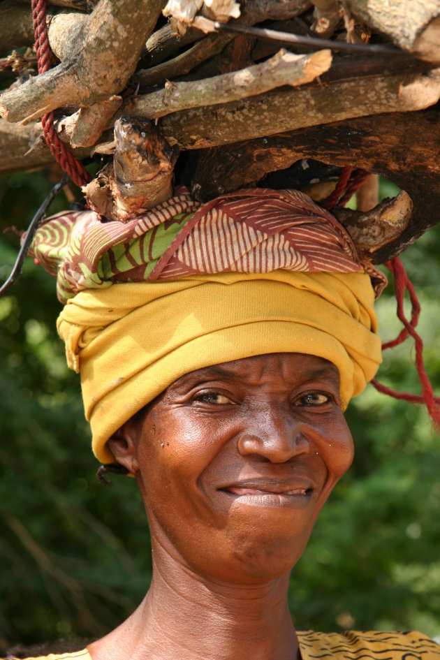
<path fill-rule="evenodd" d="M 421 633 L 297 633 L 288 613 L 353 458 L 343 411 L 381 360 L 383 276 L 328 212 L 295 191 L 197 208 L 181 190 L 126 225 L 49 221 L 34 256 L 67 302 L 94 452 L 135 477 L 152 537 L 138 609 L 64 657 L 440 658 Z"/>

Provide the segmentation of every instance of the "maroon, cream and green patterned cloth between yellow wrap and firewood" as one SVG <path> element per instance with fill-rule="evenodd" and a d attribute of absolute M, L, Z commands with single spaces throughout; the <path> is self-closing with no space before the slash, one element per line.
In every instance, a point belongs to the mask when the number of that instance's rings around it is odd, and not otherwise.
<path fill-rule="evenodd" d="M 128 223 L 62 213 L 38 228 L 30 254 L 57 277 L 61 302 L 117 282 L 219 272 L 365 270 L 376 295 L 386 284 L 332 214 L 293 190 L 243 189 L 202 206 L 180 188 Z"/>

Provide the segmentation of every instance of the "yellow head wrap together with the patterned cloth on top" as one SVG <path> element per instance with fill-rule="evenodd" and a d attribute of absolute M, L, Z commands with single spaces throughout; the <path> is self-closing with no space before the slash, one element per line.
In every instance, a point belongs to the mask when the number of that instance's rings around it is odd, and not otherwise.
<path fill-rule="evenodd" d="M 126 224 L 64 214 L 32 250 L 66 301 L 58 330 L 101 462 L 126 420 L 195 369 L 317 355 L 339 370 L 345 408 L 381 362 L 372 281 L 379 293 L 386 279 L 298 191 L 242 190 L 198 207 L 180 189 Z"/>

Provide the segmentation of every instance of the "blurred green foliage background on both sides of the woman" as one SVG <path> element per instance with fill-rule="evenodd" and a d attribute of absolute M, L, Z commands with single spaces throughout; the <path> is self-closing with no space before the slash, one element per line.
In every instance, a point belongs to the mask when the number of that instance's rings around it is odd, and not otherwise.
<path fill-rule="evenodd" d="M 23 229 L 51 183 L 0 179 L 0 228 Z M 388 187 L 387 187 L 388 186 Z M 383 195 L 393 194 L 383 183 Z M 66 207 L 61 194 L 52 212 Z M 440 226 L 404 255 L 423 305 L 425 362 L 439 391 Z M 0 235 L 0 281 L 18 239 Z M 0 653 L 17 643 L 93 638 L 142 599 L 151 559 L 133 480 L 98 485 L 78 376 L 55 332 L 54 280 L 28 259 L 0 299 Z M 378 304 L 397 335 L 393 288 Z M 418 391 L 411 345 L 385 355 L 379 378 Z M 347 413 L 356 457 L 291 578 L 298 628 L 419 628 L 440 635 L 440 439 L 425 409 L 372 386 Z"/>

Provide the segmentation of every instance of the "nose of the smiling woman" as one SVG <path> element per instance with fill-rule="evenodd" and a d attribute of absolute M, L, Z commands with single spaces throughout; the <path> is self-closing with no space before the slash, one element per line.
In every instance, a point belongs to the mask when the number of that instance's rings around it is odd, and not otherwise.
<path fill-rule="evenodd" d="M 258 455 L 272 463 L 284 463 L 309 453 L 309 441 L 293 413 L 270 410 L 261 413 L 237 441 L 242 456 Z"/>

